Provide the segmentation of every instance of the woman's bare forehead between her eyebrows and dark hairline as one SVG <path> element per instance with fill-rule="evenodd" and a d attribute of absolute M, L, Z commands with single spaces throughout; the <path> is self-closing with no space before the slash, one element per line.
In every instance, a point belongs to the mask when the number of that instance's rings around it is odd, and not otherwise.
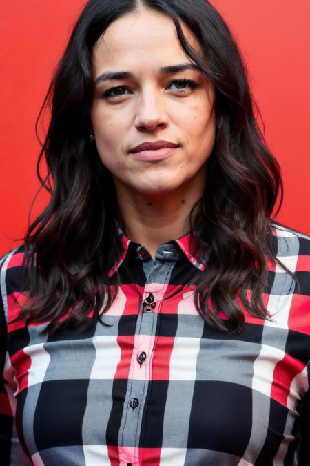
<path fill-rule="evenodd" d="M 200 52 L 196 37 L 181 22 L 190 46 Z M 103 68 L 129 69 L 132 66 L 167 66 L 192 61 L 183 50 L 172 19 L 153 10 L 132 12 L 117 19 L 105 30 L 93 50 L 94 71 Z"/>

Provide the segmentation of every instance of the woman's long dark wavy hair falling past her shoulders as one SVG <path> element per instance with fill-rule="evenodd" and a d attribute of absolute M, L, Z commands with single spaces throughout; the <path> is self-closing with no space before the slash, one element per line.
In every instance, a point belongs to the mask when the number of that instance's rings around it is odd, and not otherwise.
<path fill-rule="evenodd" d="M 48 321 L 48 332 L 86 329 L 116 298 L 117 274 L 108 276 L 122 248 L 116 195 L 112 175 L 88 138 L 92 49 L 113 21 L 141 7 L 172 18 L 187 56 L 216 90 L 221 124 L 207 161 L 203 197 L 190 216 L 207 267 L 192 283 L 196 308 L 206 322 L 220 331 L 240 331 L 245 322 L 241 307 L 268 318 L 262 293 L 267 257 L 276 261 L 271 215 L 277 200 L 279 206 L 282 202 L 282 182 L 256 122 L 240 52 L 220 14 L 205 0 L 87 2 L 41 109 L 50 103 L 50 126 L 37 166 L 50 202 L 25 235 L 30 299 L 19 318 Z M 180 21 L 198 39 L 203 56 L 187 43 Z M 40 175 L 43 157 L 46 177 Z M 220 318 L 221 309 L 227 320 Z"/>

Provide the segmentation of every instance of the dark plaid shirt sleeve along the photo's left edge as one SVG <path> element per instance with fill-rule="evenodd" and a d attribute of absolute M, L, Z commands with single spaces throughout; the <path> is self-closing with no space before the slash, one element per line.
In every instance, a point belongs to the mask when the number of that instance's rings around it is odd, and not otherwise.
<path fill-rule="evenodd" d="M 8 380 L 8 330 L 7 330 L 7 286 L 6 269 L 12 253 L 0 259 L 0 465 L 29 466 L 30 461 L 19 443 L 14 413 L 16 398 Z"/>

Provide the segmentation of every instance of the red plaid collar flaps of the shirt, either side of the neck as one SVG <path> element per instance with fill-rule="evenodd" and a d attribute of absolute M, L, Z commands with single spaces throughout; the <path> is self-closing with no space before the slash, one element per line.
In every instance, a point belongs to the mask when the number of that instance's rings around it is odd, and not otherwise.
<path fill-rule="evenodd" d="M 129 251 L 130 244 L 132 243 L 132 240 L 130 240 L 121 229 L 118 230 L 118 234 L 121 235 L 122 251 L 118 257 L 118 260 L 116 260 L 115 264 L 108 272 L 109 277 L 112 277 L 112 275 L 118 271 L 119 267 L 124 262 Z M 200 271 L 205 270 L 205 263 L 202 260 L 199 260 L 199 248 L 192 232 L 187 233 L 187 235 L 184 235 L 177 240 L 172 240 L 169 243 L 176 243 L 185 257 L 192 265 L 194 265 L 194 267 L 196 267 L 196 269 Z M 137 249 L 141 251 L 144 248 L 138 244 Z"/>

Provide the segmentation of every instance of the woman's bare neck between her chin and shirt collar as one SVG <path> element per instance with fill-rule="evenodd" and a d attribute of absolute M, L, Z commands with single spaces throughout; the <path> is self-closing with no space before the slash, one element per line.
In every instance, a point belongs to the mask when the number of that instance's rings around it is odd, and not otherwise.
<path fill-rule="evenodd" d="M 116 182 L 116 195 L 123 231 L 142 244 L 154 258 L 160 244 L 190 231 L 189 213 L 200 199 L 201 190 L 184 188 L 165 195 L 142 195 Z"/>

